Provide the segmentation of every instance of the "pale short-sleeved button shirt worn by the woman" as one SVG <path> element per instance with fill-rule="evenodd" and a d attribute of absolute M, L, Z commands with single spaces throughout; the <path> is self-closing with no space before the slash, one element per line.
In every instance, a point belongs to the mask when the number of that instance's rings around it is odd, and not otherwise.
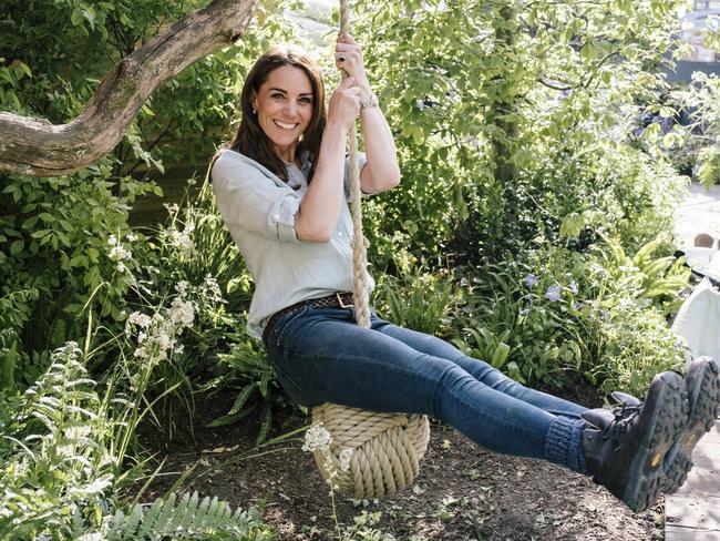
<path fill-rule="evenodd" d="M 360 170 L 366 163 L 358 156 Z M 295 215 L 307 190 L 311 163 L 302 156 L 290 184 L 235 151 L 225 151 L 210 172 L 217 206 L 255 282 L 247 333 L 260 338 L 267 319 L 301 300 L 352 290 L 352 218 L 348 208 L 350 166 L 346 160 L 344 200 L 332 236 L 325 243 L 299 241 Z M 370 290 L 374 287 L 370 278 Z"/>

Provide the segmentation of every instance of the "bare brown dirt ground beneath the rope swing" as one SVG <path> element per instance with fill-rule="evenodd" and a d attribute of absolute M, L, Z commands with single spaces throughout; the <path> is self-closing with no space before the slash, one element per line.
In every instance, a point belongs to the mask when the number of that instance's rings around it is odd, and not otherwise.
<path fill-rule="evenodd" d="M 300 437 L 253 452 L 257 433 L 253 420 L 223 428 L 205 426 L 227 411 L 233 398 L 202 404 L 194 440 L 188 430 L 177 432 L 172 442 L 156 431 L 145 431 L 143 442 L 158 458 L 166 458 L 167 474 L 154 482 L 144 499 L 162 496 L 181 472 L 197 465 L 186 488 L 217 496 L 234 508 L 264 507 L 278 540 L 338 539 L 328 486 L 312 457 L 300 449 Z M 598 401 L 588 389 L 574 390 L 568 398 L 587 406 Z M 289 412 L 275 436 L 306 423 Z M 644 513 L 631 513 L 584 476 L 544 461 L 486 451 L 438 423 L 432 426 L 420 476 L 410 489 L 374 501 L 336 498 L 342 528 L 352 527 L 363 512 L 380 513 L 371 514 L 377 520 L 373 528 L 399 540 L 664 539 L 661 501 Z"/>

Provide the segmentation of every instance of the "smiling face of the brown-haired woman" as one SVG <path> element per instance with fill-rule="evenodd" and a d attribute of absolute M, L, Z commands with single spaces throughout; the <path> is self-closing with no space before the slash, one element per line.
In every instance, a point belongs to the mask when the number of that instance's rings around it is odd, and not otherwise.
<path fill-rule="evenodd" d="M 291 65 L 272 70 L 253 98 L 258 124 L 280 159 L 295 159 L 298 139 L 312 119 L 313 99 L 310 79 Z"/>

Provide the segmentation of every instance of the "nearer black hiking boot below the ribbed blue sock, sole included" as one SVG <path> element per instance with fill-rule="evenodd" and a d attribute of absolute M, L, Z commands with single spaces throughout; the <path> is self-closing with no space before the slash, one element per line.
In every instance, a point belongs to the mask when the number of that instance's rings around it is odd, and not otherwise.
<path fill-rule="evenodd" d="M 667 483 L 665 456 L 685 433 L 688 399 L 682 378 L 657 375 L 640 406 L 588 410 L 583 419 L 596 427 L 583 432 L 585 461 L 595 482 L 606 487 L 635 512 L 645 511 Z"/>

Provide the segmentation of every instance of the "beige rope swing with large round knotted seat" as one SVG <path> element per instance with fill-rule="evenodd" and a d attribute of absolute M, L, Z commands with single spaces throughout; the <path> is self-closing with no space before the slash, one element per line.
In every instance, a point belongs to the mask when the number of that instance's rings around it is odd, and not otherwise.
<path fill-rule="evenodd" d="M 340 31 L 348 31 L 347 0 L 340 0 Z M 343 78 L 347 73 L 343 73 Z M 348 134 L 351 173 L 351 211 L 353 224 L 352 259 L 354 275 L 354 309 L 358 325 L 370 327 L 368 293 L 367 239 L 362 233 L 360 171 L 358 169 L 358 133 L 353 125 Z M 323 404 L 312 410 L 313 425 L 322 423 L 332 436 L 330 460 L 338 477 L 339 490 L 356 498 L 392 494 L 408 487 L 418 474 L 419 463 L 430 440 L 430 423 L 424 415 L 381 414 Z M 351 449 L 350 468 L 342 471 L 340 453 Z M 326 453 L 315 451 L 320 474 L 328 479 Z"/>

